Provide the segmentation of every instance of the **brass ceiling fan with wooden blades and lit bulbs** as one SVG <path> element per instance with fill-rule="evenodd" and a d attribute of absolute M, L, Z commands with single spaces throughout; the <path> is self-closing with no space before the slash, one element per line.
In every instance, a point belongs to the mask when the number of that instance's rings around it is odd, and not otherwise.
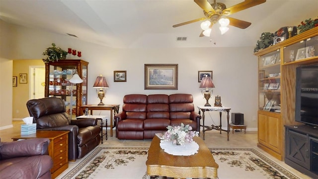
<path fill-rule="evenodd" d="M 214 0 L 214 3 L 211 4 L 207 0 L 194 0 L 194 2 L 203 9 L 205 17 L 175 24 L 172 25 L 172 27 L 178 27 L 201 20 L 206 20 L 201 23 L 201 28 L 203 29 L 203 31 L 201 32 L 200 37 L 203 37 L 210 36 L 211 27 L 217 22 L 221 24 L 220 30 L 222 34 L 229 29 L 227 25 L 232 25 L 241 29 L 247 28 L 248 26 L 250 26 L 250 22 L 239 20 L 233 17 L 222 18 L 222 16 L 234 14 L 235 12 L 239 12 L 249 7 L 264 3 L 266 2 L 266 0 L 244 0 L 243 2 L 240 2 L 228 8 L 224 3 L 216 2 L 216 0 Z"/>

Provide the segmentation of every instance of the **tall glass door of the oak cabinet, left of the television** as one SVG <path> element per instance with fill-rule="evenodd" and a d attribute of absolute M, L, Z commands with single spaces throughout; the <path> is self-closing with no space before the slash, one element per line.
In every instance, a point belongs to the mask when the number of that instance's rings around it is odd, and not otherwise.
<path fill-rule="evenodd" d="M 280 51 L 258 58 L 259 110 L 280 112 Z"/>

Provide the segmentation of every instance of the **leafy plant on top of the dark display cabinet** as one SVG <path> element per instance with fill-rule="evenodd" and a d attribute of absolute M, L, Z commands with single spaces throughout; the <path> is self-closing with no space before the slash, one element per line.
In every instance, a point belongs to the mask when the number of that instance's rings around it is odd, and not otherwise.
<path fill-rule="evenodd" d="M 46 58 L 42 59 L 44 63 L 55 62 L 58 60 L 66 59 L 67 51 L 56 47 L 55 43 L 52 43 L 52 47 L 46 48 L 43 52 L 43 55 L 46 55 Z"/>

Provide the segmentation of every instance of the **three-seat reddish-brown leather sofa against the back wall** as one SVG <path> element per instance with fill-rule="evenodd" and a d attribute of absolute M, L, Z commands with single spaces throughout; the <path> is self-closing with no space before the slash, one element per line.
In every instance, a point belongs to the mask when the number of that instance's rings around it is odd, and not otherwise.
<path fill-rule="evenodd" d="M 200 132 L 201 116 L 191 94 L 128 94 L 122 112 L 115 115 L 118 139 L 153 139 L 168 125 L 189 124 Z"/>

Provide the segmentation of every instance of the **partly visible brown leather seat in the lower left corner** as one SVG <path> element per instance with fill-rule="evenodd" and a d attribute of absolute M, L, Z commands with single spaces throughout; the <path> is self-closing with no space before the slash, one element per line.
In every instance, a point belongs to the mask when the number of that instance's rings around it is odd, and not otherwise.
<path fill-rule="evenodd" d="M 51 179 L 49 143 L 45 138 L 0 142 L 0 178 Z"/>

